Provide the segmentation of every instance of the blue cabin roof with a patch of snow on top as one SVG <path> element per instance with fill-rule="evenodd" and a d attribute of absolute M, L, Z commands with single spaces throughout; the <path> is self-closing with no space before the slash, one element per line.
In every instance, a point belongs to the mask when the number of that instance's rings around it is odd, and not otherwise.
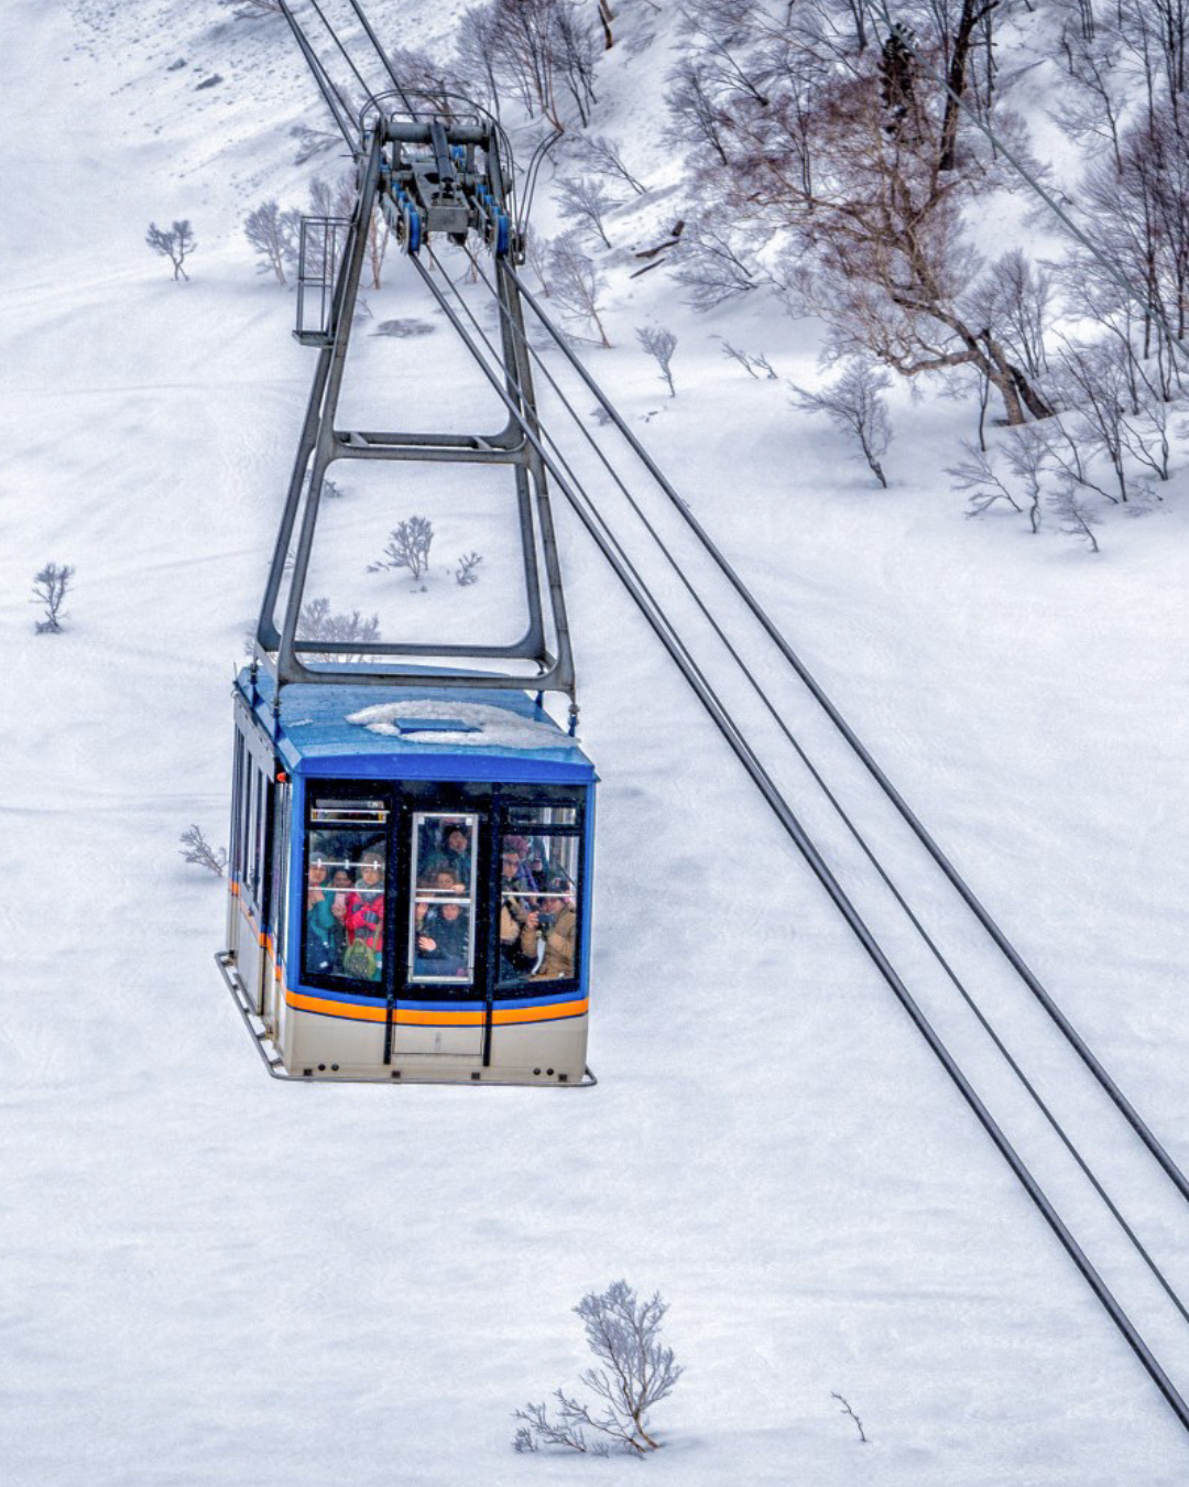
<path fill-rule="evenodd" d="M 247 702 L 247 668 L 236 688 Z M 273 691 L 273 678 L 262 668 L 254 712 L 269 735 Z M 432 729 L 435 720 L 443 723 L 441 730 Z M 276 745 L 287 769 L 299 775 L 575 784 L 594 779 L 594 766 L 578 744 L 528 693 L 483 686 L 294 683 L 281 688 Z"/>

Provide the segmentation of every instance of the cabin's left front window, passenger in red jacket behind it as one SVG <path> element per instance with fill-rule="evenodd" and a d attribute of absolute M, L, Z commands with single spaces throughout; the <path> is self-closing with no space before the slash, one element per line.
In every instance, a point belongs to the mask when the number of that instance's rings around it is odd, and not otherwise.
<path fill-rule="evenodd" d="M 303 975 L 379 995 L 383 978 L 388 806 L 311 791 Z"/>

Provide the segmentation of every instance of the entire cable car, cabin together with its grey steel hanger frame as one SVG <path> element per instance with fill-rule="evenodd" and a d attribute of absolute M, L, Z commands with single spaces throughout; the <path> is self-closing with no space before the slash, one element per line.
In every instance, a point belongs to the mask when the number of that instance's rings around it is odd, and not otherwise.
<path fill-rule="evenodd" d="M 302 229 L 296 335 L 318 360 L 254 657 L 233 690 L 230 894 L 216 959 L 278 1078 L 590 1084 L 594 767 L 574 738 L 569 628 L 507 271 L 522 238 L 502 134 L 482 110 L 443 122 L 373 98 L 349 143 L 352 217 Z M 504 400 L 502 430 L 336 427 L 376 210 L 410 257 L 435 233 L 490 250 L 504 306 L 496 372 L 471 354 Z M 450 462 L 459 483 L 474 464 L 504 470 L 523 633 L 507 644 L 303 635 L 320 500 L 339 459 L 386 462 L 385 510 L 404 488 L 401 461 Z M 557 693 L 568 730 L 544 706 Z"/>

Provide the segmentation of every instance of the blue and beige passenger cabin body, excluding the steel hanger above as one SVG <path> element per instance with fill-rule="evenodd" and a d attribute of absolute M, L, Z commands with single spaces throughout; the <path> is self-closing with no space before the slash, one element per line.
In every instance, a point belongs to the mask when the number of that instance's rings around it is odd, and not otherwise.
<path fill-rule="evenodd" d="M 235 687 L 226 964 L 278 1075 L 581 1084 L 594 769 L 525 693 Z"/>

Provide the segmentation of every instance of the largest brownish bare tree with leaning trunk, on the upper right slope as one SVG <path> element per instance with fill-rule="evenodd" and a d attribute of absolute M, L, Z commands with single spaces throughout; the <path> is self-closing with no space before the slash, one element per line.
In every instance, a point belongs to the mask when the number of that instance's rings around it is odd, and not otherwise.
<path fill-rule="evenodd" d="M 745 235 L 785 236 L 789 302 L 828 321 L 835 352 L 875 357 L 904 376 L 969 369 L 1002 396 L 1009 424 L 1045 418 L 1048 400 L 1011 343 L 963 306 L 982 269 L 965 207 L 1009 184 L 1009 172 L 953 113 L 936 74 L 953 82 L 959 61 L 973 65 L 971 28 L 988 12 L 966 0 L 921 0 L 913 13 L 929 21 L 914 52 L 892 37 L 880 57 L 798 70 L 795 82 L 749 61 L 740 68 L 746 82 L 728 82 L 719 68 L 710 86 L 709 62 L 700 64 L 700 97 L 713 106 L 704 172 L 725 208 L 725 241 L 740 256 Z M 999 128 L 1011 135 L 1011 119 Z"/>

